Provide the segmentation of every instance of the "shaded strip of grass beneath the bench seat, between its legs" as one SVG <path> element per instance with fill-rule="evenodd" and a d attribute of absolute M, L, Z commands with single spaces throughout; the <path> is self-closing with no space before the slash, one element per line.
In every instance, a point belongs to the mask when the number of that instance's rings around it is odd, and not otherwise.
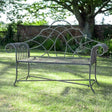
<path fill-rule="evenodd" d="M 45 64 L 40 64 L 40 65 L 36 65 L 36 66 L 32 66 L 31 67 L 31 71 L 32 70 L 39 70 L 39 72 L 42 74 L 44 71 L 45 73 L 49 73 L 51 71 L 51 73 L 70 73 L 74 76 L 78 76 L 80 78 L 85 78 L 85 75 L 83 74 L 88 74 L 88 67 L 87 66 L 83 66 L 82 68 L 80 66 L 77 65 L 45 65 Z M 40 71 L 42 70 L 42 71 Z"/>

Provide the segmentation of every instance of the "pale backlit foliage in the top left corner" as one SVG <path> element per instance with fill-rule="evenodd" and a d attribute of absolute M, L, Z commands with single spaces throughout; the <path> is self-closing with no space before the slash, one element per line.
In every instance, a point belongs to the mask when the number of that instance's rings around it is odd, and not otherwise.
<path fill-rule="evenodd" d="M 5 14 L 7 21 L 13 23 L 21 21 L 26 16 L 25 13 L 22 13 L 27 7 L 24 1 L 26 0 L 0 0 L 0 15 Z"/>

